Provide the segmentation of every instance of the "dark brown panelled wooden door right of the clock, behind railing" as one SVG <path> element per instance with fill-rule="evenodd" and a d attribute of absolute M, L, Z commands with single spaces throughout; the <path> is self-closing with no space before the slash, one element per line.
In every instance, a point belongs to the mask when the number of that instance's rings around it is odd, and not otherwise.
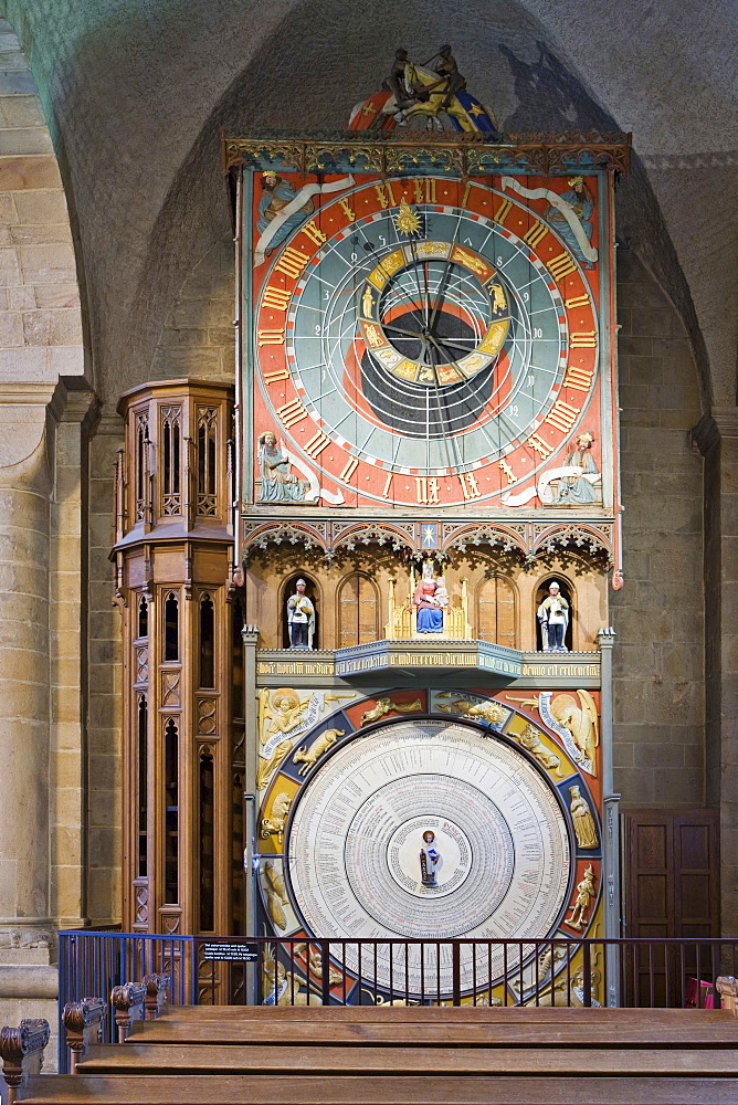
<path fill-rule="evenodd" d="M 626 938 L 720 935 L 717 810 L 636 810 L 624 814 Z M 631 1004 L 684 1004 L 690 978 L 714 981 L 713 947 L 671 954 L 654 948 L 628 957 Z"/>

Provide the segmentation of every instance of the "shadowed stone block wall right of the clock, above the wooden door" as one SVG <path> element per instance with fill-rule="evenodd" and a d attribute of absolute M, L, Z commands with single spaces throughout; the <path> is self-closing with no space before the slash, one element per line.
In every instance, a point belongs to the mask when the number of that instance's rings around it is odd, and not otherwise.
<path fill-rule="evenodd" d="M 705 801 L 699 389 L 679 318 L 618 254 L 623 570 L 611 592 L 615 789 L 625 806 Z"/>

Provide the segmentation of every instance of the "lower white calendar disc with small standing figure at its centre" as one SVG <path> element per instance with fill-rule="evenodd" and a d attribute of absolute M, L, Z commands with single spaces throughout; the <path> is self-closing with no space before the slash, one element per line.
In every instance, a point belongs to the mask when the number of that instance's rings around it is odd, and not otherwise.
<path fill-rule="evenodd" d="M 440 720 L 398 722 L 339 748 L 295 807 L 287 855 L 307 929 L 352 941 L 545 937 L 572 877 L 565 817 L 546 778 L 502 740 Z M 378 954 L 377 980 L 387 986 L 387 946 Z M 358 955 L 356 944 L 347 955 Z M 486 951 L 474 968 L 471 946 L 462 958 L 465 987 L 502 970 Z M 417 946 L 409 959 L 417 991 Z M 428 968 L 435 979 L 435 965 Z"/>

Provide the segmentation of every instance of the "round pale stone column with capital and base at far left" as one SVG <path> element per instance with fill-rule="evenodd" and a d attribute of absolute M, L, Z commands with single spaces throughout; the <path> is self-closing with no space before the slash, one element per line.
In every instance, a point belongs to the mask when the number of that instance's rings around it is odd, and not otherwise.
<path fill-rule="evenodd" d="M 0 388 L 0 1018 L 49 1015 L 50 385 Z M 53 1007 L 52 1007 L 53 1008 Z"/>

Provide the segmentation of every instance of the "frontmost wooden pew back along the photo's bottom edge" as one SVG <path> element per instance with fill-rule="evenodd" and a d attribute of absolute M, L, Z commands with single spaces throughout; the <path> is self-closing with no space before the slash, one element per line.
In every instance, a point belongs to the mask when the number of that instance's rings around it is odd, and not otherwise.
<path fill-rule="evenodd" d="M 24 1105 L 736 1105 L 738 1081 L 695 1077 L 41 1075 Z"/>

